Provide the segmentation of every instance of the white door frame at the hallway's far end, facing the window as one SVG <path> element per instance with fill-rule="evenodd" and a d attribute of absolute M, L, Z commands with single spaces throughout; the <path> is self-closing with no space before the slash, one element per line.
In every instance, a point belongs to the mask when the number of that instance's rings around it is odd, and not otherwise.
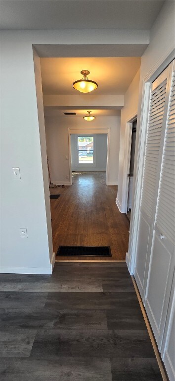
<path fill-rule="evenodd" d="M 68 128 L 69 142 L 69 183 L 72 185 L 72 168 L 71 168 L 71 135 L 96 135 L 100 133 L 107 134 L 107 160 L 106 160 L 106 185 L 109 184 L 109 155 L 110 155 L 110 128 Z"/>

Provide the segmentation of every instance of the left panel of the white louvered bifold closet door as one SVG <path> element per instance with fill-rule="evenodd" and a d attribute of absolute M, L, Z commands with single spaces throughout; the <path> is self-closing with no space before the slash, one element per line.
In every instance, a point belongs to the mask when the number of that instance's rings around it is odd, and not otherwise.
<path fill-rule="evenodd" d="M 141 207 L 139 215 L 138 244 L 134 276 L 142 299 L 145 298 L 148 266 L 151 251 L 151 231 L 156 211 L 158 181 L 160 176 L 160 146 L 162 127 L 167 113 L 167 68 L 151 85 L 147 137 L 144 158 Z"/>

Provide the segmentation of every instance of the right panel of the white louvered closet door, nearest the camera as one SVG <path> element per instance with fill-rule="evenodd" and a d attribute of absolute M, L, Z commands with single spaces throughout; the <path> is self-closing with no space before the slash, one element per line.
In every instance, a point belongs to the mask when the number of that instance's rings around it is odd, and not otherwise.
<path fill-rule="evenodd" d="M 145 308 L 161 349 L 175 267 L 175 68 L 163 146 Z"/>

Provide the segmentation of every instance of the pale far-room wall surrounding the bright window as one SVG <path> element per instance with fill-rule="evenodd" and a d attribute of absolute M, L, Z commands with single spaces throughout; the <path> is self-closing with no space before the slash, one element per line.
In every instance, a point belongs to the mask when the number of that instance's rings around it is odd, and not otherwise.
<path fill-rule="evenodd" d="M 106 171 L 107 159 L 107 134 L 101 133 L 94 135 L 94 157 L 95 166 L 87 167 L 78 165 L 77 136 L 71 135 L 72 171 Z"/>

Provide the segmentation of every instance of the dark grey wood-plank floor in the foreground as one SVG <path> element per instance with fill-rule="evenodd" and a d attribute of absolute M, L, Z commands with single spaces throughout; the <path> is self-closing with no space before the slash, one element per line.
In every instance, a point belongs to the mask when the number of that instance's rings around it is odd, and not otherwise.
<path fill-rule="evenodd" d="M 127 265 L 0 276 L 1 381 L 162 381 Z"/>

